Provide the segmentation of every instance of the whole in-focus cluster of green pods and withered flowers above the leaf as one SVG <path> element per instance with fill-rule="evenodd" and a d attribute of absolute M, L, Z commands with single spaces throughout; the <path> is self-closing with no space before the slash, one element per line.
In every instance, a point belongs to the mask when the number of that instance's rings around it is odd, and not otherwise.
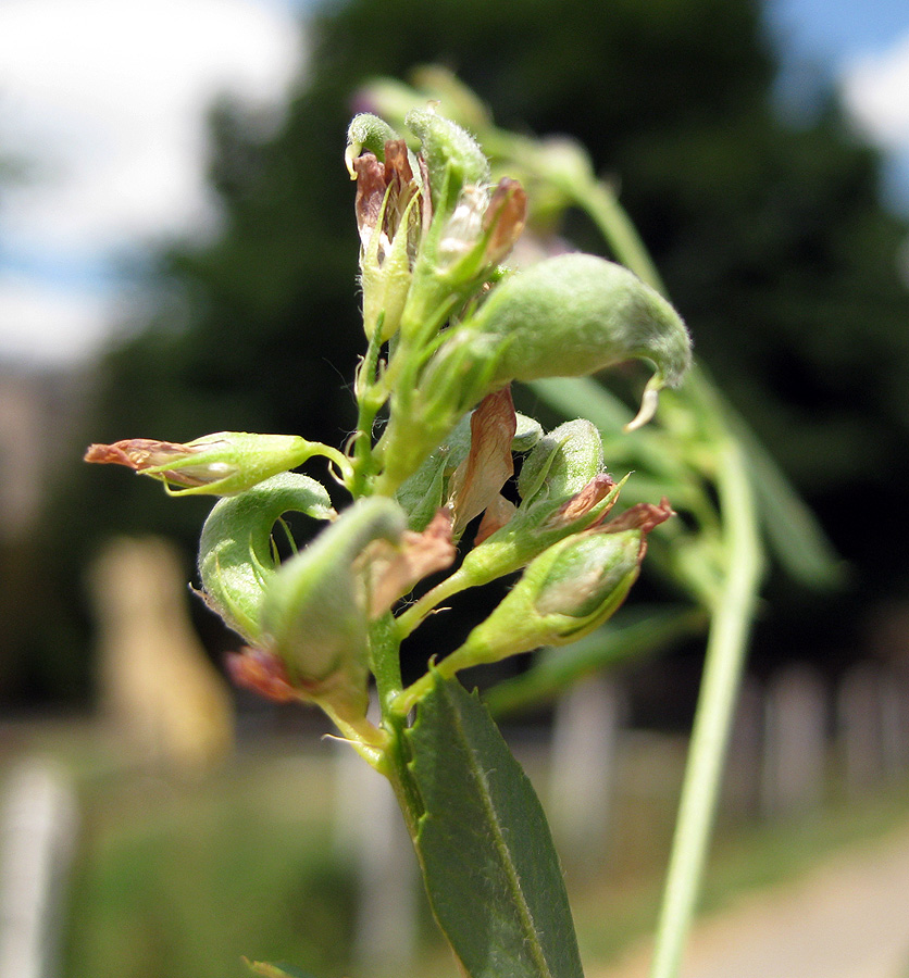
<path fill-rule="evenodd" d="M 407 138 L 363 114 L 348 133 L 369 341 L 348 453 L 297 436 L 220 432 L 86 455 L 169 492 L 223 497 L 202 531 L 199 574 L 206 601 L 247 642 L 233 675 L 272 699 L 319 704 L 364 751 L 382 749 L 365 720 L 379 625 L 401 640 L 447 595 L 523 569 L 439 670 L 572 641 L 619 606 L 647 534 L 672 513 L 663 500 L 607 521 L 621 486 L 600 434 L 585 421 L 544 432 L 515 412 L 511 381 L 645 361 L 643 423 L 690 358 L 672 306 L 619 265 L 563 254 L 503 267 L 526 222 L 521 184 L 494 183 L 473 137 L 436 112 L 412 110 L 404 123 Z M 315 455 L 352 497 L 339 512 L 321 482 L 291 472 Z M 516 497 L 503 492 L 509 480 Z M 282 563 L 272 532 L 288 512 L 327 525 Z M 419 581 L 452 566 L 477 517 L 458 569 L 399 609 Z M 407 712 L 427 681 L 393 709 Z"/>

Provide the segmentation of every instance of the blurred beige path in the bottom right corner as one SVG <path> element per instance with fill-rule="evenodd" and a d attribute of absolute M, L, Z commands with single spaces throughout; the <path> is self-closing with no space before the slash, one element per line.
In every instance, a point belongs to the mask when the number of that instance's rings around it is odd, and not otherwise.
<path fill-rule="evenodd" d="M 646 978 L 649 949 L 589 978 Z M 682 978 L 909 978 L 909 827 L 708 917 Z"/>

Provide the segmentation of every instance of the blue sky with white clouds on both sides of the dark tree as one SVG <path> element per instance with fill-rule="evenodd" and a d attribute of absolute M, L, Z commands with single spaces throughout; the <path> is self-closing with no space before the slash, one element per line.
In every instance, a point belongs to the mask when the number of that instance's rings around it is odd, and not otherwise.
<path fill-rule="evenodd" d="M 124 256 L 206 234 L 206 108 L 279 112 L 306 0 L 0 0 L 0 364 L 84 363 L 123 318 Z M 792 98 L 805 64 L 888 153 L 909 213 L 909 0 L 770 0 Z"/>

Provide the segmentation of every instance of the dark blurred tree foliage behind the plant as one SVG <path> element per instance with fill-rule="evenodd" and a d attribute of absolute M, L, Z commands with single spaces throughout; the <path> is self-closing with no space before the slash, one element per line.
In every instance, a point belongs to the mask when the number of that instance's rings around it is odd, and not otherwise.
<path fill-rule="evenodd" d="M 909 572 L 907 226 L 883 210 L 880 156 L 833 93 L 799 127 L 781 121 L 756 0 L 349 0 L 315 15 L 310 40 L 275 131 L 241 105 L 213 109 L 222 229 L 158 256 L 155 311 L 104 360 L 86 441 L 235 429 L 343 442 L 363 346 L 346 126 L 363 79 L 438 61 L 501 126 L 568 133 L 614 176 L 698 355 L 852 565 L 833 600 L 771 584 L 758 652 L 848 648 L 860 610 Z M 597 247 L 583 221 L 564 230 Z M 847 499 L 885 514 L 885 531 Z M 42 524 L 34 654 L 84 654 L 73 599 L 104 535 L 170 532 L 190 553 L 197 502 L 74 465 Z M 80 693 L 82 675 L 48 667 L 33 691 Z"/>

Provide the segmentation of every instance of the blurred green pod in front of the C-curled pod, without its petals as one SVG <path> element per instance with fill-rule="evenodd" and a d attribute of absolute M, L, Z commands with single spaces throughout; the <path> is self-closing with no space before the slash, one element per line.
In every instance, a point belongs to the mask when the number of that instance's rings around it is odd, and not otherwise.
<path fill-rule="evenodd" d="M 343 690 L 366 702 L 366 595 L 357 559 L 373 540 L 397 542 L 407 527 L 390 499 L 361 499 L 286 561 L 269 581 L 261 627 L 292 686 L 319 699 Z"/>

